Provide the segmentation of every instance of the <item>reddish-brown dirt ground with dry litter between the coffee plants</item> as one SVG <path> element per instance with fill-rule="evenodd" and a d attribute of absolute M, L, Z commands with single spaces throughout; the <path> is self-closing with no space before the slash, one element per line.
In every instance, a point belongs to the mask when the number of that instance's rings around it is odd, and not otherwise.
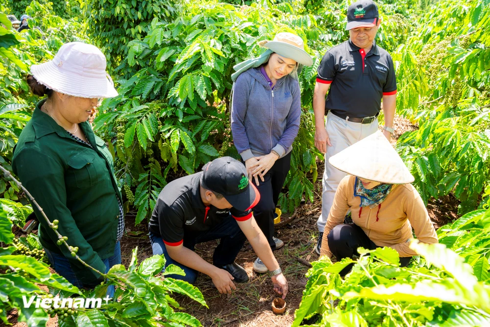
<path fill-rule="evenodd" d="M 400 117 L 394 120 L 395 134 L 392 143 L 405 131 L 416 130 L 418 127 Z M 319 176 L 323 171 L 323 165 L 319 164 Z M 271 311 L 271 302 L 275 298 L 270 278 L 266 275 L 256 274 L 253 269 L 253 261 L 256 256 L 249 246 L 245 246 L 237 257 L 237 263 L 242 265 L 250 280 L 245 284 L 237 284 L 237 290 L 231 295 L 220 295 L 215 289 L 211 278 L 200 275 L 196 286 L 201 290 L 209 309 L 190 299 L 177 296 L 176 300 L 181 304 L 182 310 L 188 312 L 201 322 L 205 327 L 287 327 L 294 320 L 294 311 L 301 302 L 301 296 L 306 284 L 305 274 L 308 271 L 309 262 L 318 259 L 315 246 L 318 238 L 316 221 L 321 210 L 321 178 L 316 185 L 316 199 L 314 203 L 302 203 L 296 210 L 294 220 L 286 225 L 276 228 L 276 236 L 284 241 L 285 246 L 274 252 L 284 275 L 289 281 L 289 294 L 286 298 L 287 308 L 283 315 L 275 315 Z M 429 215 L 434 226 L 439 228 L 447 222 L 457 218 L 457 201 L 452 195 L 436 201 L 430 201 L 428 205 Z M 288 215 L 283 215 L 287 219 Z M 123 264 L 127 265 L 131 259 L 131 251 L 138 247 L 138 260 L 141 262 L 152 255 L 150 242 L 147 236 L 146 224 L 134 225 L 134 215 L 126 216 L 127 235 L 121 242 Z M 196 252 L 208 261 L 212 261 L 213 250 L 216 241 L 211 241 L 196 246 Z M 11 321 L 14 322 L 16 314 L 11 312 Z M 16 323 L 15 327 L 25 326 L 24 323 Z M 56 318 L 50 319 L 48 327 L 57 326 Z"/>

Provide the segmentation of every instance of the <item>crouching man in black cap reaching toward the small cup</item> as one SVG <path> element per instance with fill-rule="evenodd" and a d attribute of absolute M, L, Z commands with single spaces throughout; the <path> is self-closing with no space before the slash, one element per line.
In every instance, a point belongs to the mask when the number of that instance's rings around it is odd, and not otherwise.
<path fill-rule="evenodd" d="M 220 293 L 236 289 L 248 276 L 235 258 L 248 239 L 257 256 L 269 269 L 274 290 L 288 293 L 269 242 L 252 216 L 260 194 L 248 182 L 245 166 L 231 158 L 215 159 L 202 172 L 173 180 L 160 192 L 149 222 L 153 254 L 164 254 L 166 268 L 174 264 L 185 276 L 169 275 L 194 283 L 198 272 L 212 278 Z M 220 239 L 213 264 L 194 252 L 198 243 Z"/>

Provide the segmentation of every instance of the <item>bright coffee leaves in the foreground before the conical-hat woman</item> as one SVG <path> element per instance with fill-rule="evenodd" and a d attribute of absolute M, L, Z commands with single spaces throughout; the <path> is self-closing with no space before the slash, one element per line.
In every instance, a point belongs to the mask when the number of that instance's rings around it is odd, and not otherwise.
<path fill-rule="evenodd" d="M 438 230 L 441 244 L 414 241 L 420 257 L 407 268 L 386 247 L 359 249 L 357 261 L 324 256 L 307 274 L 292 326 L 487 326 L 489 228 L 490 210 L 466 214 Z"/>

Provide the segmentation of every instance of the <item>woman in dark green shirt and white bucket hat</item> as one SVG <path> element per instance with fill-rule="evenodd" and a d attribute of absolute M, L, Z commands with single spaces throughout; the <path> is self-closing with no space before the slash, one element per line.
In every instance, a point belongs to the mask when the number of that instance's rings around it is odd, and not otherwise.
<path fill-rule="evenodd" d="M 103 277 L 73 254 L 102 273 L 121 263 L 121 193 L 112 156 L 87 122 L 99 98 L 118 95 L 105 68 L 102 52 L 80 42 L 67 43 L 52 60 L 33 65 L 27 82 L 35 95 L 48 97 L 37 103 L 12 158 L 14 173 L 73 247 L 62 244 L 33 205 L 52 267 L 84 288 Z M 112 297 L 114 286 L 107 294 Z"/>

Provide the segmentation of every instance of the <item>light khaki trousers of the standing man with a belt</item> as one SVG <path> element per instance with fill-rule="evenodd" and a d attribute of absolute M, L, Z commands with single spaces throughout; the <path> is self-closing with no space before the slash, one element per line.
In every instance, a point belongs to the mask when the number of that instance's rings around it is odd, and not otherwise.
<path fill-rule="evenodd" d="M 328 137 L 332 146 L 327 144 L 327 152 L 325 153 L 325 170 L 323 171 L 321 195 L 321 214 L 317 221 L 318 230 L 323 232 L 327 222 L 330 207 L 334 201 L 335 191 L 339 186 L 340 181 L 347 174 L 334 168 L 328 162 L 328 158 L 353 145 L 354 143 L 364 139 L 378 130 L 378 119 L 376 118 L 371 124 L 361 124 L 348 122 L 340 117 L 335 116 L 330 111 L 327 114 L 327 122 L 325 124 Z M 369 151 L 369 149 L 366 149 Z M 352 158 L 362 162 L 363 154 Z"/>

